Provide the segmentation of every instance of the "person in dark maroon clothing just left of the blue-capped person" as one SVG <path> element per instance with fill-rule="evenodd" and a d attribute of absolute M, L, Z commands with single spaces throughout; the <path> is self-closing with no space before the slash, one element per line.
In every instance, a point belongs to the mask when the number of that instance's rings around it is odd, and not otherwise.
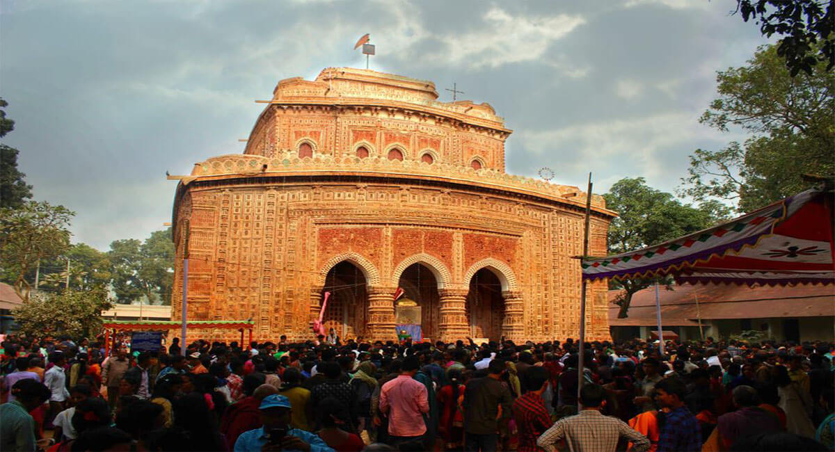
<path fill-rule="evenodd" d="M 244 377 L 244 394 L 246 397 L 230 404 L 223 417 L 220 418 L 220 433 L 225 434 L 229 449 L 235 447 L 235 441 L 240 434 L 247 430 L 261 427 L 261 405 L 267 395 L 278 394 L 278 389 L 271 384 L 265 384 L 264 374 L 249 374 Z"/>

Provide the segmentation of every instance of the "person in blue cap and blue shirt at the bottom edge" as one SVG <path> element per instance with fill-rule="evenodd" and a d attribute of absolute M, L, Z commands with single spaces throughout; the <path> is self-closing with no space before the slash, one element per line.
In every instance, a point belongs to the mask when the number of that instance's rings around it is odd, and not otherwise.
<path fill-rule="evenodd" d="M 245 431 L 235 441 L 235 452 L 245 450 L 301 450 L 335 452 L 316 434 L 290 426 L 292 405 L 283 395 L 266 396 L 258 407 L 264 426 Z"/>

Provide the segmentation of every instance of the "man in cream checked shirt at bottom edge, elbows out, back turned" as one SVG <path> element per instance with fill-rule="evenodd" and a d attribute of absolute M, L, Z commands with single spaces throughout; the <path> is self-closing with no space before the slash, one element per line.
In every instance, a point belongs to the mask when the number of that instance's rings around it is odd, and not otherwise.
<path fill-rule="evenodd" d="M 606 452 L 617 449 L 618 440 L 632 441 L 636 452 L 650 449 L 650 440 L 631 429 L 624 421 L 604 416 L 600 409 L 605 404 L 606 390 L 599 384 L 584 384 L 579 399 L 583 409 L 575 416 L 559 419 L 546 430 L 536 445 L 545 450 L 556 450 L 554 444 L 564 439 L 571 452 Z"/>

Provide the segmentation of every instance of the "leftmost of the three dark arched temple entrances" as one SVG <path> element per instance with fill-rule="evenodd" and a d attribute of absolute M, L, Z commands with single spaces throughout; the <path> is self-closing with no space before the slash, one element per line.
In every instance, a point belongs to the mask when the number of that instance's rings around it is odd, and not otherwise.
<path fill-rule="evenodd" d="M 356 265 L 342 261 L 327 272 L 325 287 L 321 292 L 330 292 L 323 323 L 325 329 L 334 329 L 344 342 L 348 338 L 364 337 L 368 298 L 366 278 Z"/>

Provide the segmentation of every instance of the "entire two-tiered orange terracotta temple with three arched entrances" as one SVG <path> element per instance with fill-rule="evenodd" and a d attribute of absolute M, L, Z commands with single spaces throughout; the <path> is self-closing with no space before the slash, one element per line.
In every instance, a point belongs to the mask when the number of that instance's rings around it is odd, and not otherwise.
<path fill-rule="evenodd" d="M 505 173 L 512 131 L 490 105 L 355 68 L 281 80 L 265 103 L 243 154 L 181 178 L 173 319 L 187 255 L 188 318 L 252 319 L 261 341 L 311 339 L 325 292 L 343 338 L 396 339 L 403 300 L 424 339 L 578 336 L 585 193 Z M 593 197 L 590 254 L 614 215 Z M 609 336 L 607 309 L 590 285 L 588 337 Z"/>

